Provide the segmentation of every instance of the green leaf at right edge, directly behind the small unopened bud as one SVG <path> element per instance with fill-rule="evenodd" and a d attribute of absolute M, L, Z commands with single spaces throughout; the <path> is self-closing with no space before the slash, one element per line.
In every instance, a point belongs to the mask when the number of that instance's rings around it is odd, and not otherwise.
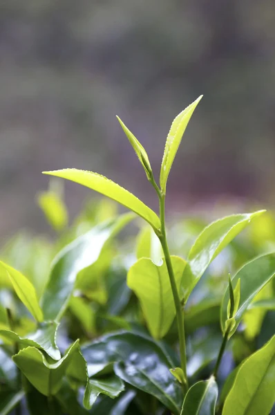
<path fill-rule="evenodd" d="M 240 304 L 238 304 L 238 310 L 234 315 L 236 324 L 231 335 L 236 331 L 240 320 L 243 317 L 243 313 L 247 310 L 252 303 L 254 297 L 259 291 L 269 282 L 275 274 L 275 253 L 263 255 L 253 261 L 248 262 L 240 268 L 238 273 L 232 278 L 232 286 L 235 288 L 240 279 Z M 222 331 L 225 333 L 225 323 L 227 321 L 227 306 L 229 302 L 229 288 L 225 291 L 225 296 L 222 299 L 220 324 Z"/>

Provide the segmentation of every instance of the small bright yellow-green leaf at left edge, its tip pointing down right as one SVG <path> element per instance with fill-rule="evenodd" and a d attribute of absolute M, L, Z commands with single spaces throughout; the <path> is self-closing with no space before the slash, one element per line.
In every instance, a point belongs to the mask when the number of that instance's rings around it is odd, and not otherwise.
<path fill-rule="evenodd" d="M 28 308 L 28 311 L 30 311 L 38 322 L 43 321 L 43 313 L 38 304 L 37 293 L 32 283 L 23 274 L 19 273 L 19 271 L 4 262 L 0 261 L 0 266 L 6 269 L 15 293 L 17 293 L 24 306 Z"/>

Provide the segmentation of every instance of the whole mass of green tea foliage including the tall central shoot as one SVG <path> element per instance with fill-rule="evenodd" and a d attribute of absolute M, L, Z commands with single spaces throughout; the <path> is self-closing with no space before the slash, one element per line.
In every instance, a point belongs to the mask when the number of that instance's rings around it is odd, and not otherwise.
<path fill-rule="evenodd" d="M 55 182 L 37 202 L 59 234 L 57 242 L 21 234 L 3 248 L 1 415 L 272 411 L 272 214 L 234 214 L 207 226 L 178 221 L 167 233 L 167 180 L 200 99 L 171 125 L 159 185 L 144 147 L 118 118 L 158 197 L 159 215 L 99 174 L 46 172 L 134 213 L 117 214 L 106 201 L 88 204 L 68 228 Z M 133 255 L 133 237 L 118 234 L 136 214 L 149 225 L 142 226 Z M 250 233 L 236 238 L 248 225 Z M 274 252 L 263 253 L 265 247 Z M 232 269 L 238 270 L 228 275 Z"/>

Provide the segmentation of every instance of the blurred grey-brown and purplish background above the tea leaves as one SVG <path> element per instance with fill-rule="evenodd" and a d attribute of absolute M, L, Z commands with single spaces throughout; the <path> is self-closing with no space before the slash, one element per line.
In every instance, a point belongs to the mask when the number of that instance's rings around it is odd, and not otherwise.
<path fill-rule="evenodd" d="M 35 203 L 42 170 L 93 170 L 157 208 L 115 114 L 158 176 L 173 118 L 200 94 L 169 213 L 274 208 L 274 47 L 272 0 L 2 0 L 1 241 L 48 229 Z M 72 216 L 89 195 L 66 183 Z"/>

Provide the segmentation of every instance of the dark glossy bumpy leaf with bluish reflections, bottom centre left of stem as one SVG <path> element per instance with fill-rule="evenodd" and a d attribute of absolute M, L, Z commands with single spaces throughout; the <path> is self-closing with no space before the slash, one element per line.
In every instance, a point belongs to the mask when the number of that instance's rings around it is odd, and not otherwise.
<path fill-rule="evenodd" d="M 83 347 L 82 354 L 88 371 L 93 366 L 115 362 L 115 374 L 122 380 L 155 396 L 174 415 L 180 414 L 182 387 L 169 371 L 178 362 L 148 336 L 127 332 L 106 335 Z"/>

